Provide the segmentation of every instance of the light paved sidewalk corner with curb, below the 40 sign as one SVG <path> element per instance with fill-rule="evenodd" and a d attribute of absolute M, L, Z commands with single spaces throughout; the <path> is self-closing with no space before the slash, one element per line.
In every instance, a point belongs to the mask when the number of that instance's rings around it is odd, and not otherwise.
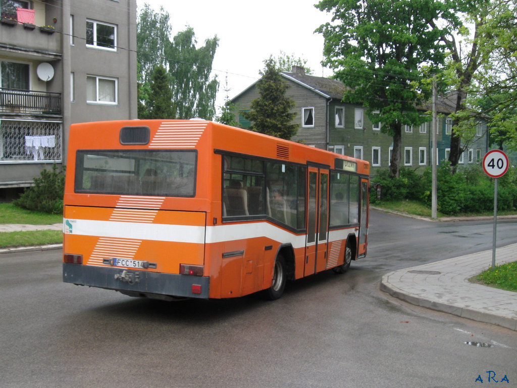
<path fill-rule="evenodd" d="M 496 265 L 517 261 L 517 244 L 496 249 Z M 381 290 L 403 301 L 517 330 L 517 292 L 468 279 L 492 265 L 492 250 L 437 261 L 383 276 Z"/>

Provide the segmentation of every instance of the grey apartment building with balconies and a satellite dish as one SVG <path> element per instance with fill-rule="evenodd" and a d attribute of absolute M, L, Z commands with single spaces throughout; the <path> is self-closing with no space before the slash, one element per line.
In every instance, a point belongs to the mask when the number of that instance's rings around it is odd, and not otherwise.
<path fill-rule="evenodd" d="M 70 124 L 137 117 L 136 0 L 0 0 L 0 191 L 66 163 Z"/>

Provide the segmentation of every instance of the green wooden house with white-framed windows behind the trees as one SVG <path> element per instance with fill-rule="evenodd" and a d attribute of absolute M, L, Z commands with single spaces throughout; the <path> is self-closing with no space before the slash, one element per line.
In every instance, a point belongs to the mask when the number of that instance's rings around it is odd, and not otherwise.
<path fill-rule="evenodd" d="M 387 168 L 391 159 L 392 138 L 382 133 L 382 123 L 374 123 L 361 105 L 344 103 L 346 86 L 337 80 L 309 76 L 303 67 L 293 66 L 291 72 L 281 72 L 291 86 L 286 95 L 296 102 L 293 109 L 296 116 L 293 123 L 299 124 L 293 141 L 303 142 L 323 150 L 368 160 L 372 173 Z M 236 119 L 242 128 L 248 128 L 242 112 L 250 109 L 251 101 L 259 97 L 256 82 L 232 99 L 236 106 Z M 422 114 L 431 106 L 422 107 Z M 449 157 L 452 120 L 447 118 L 453 112 L 451 96 L 437 101 L 439 115 L 437 125 L 438 163 Z M 430 118 L 431 120 L 431 118 Z M 479 163 L 488 151 L 486 123 L 479 123 L 472 139 L 464 145 L 460 164 Z M 403 126 L 401 166 L 423 171 L 431 165 L 432 132 L 431 123 L 420 126 Z"/>

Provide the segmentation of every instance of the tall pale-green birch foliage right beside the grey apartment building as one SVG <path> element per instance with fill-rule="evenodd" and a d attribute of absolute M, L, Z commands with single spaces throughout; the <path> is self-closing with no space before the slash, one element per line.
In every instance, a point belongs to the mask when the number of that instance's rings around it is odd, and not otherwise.
<path fill-rule="evenodd" d="M 150 77 L 157 66 L 169 72 L 172 91 L 172 116 L 201 117 L 215 115 L 215 99 L 219 82 L 211 77 L 212 62 L 218 46 L 217 36 L 196 47 L 192 28 L 179 32 L 171 41 L 169 13 L 163 7 L 154 12 L 148 4 L 140 12 L 137 25 L 139 117 L 149 112 Z"/>

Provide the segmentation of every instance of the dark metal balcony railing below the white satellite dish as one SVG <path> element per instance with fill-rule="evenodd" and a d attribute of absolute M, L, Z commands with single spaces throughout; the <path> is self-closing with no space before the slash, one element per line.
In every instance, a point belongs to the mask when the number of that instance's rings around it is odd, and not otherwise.
<path fill-rule="evenodd" d="M 0 88 L 0 112 L 61 114 L 61 94 Z"/>

